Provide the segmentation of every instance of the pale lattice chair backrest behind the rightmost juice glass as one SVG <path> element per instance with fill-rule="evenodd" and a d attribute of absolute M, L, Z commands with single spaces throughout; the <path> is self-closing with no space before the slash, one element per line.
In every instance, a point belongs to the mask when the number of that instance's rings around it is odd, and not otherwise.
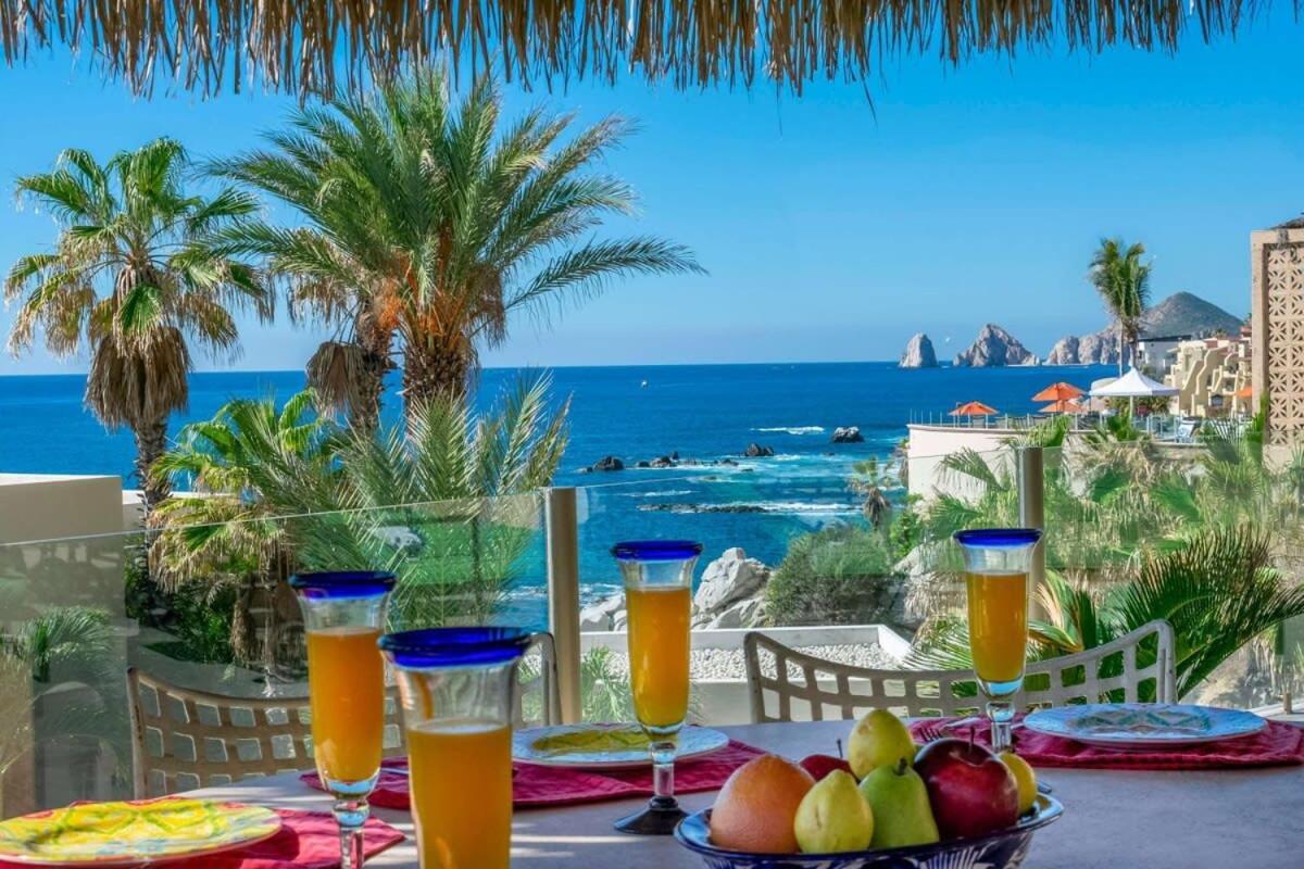
<path fill-rule="evenodd" d="M 979 710 L 973 671 L 870 670 L 797 651 L 764 633 L 743 638 L 751 719 L 858 718 L 887 707 L 911 718 Z M 1025 709 L 1099 702 L 1175 700 L 1172 628 L 1151 621 L 1095 649 L 1028 666 L 1017 705 Z"/>

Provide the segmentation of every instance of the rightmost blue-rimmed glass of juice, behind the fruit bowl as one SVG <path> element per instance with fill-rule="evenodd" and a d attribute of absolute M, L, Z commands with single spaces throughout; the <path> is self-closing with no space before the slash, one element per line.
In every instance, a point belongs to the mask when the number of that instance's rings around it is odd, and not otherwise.
<path fill-rule="evenodd" d="M 1042 532 L 978 528 L 955 535 L 965 559 L 969 651 L 978 688 L 987 698 L 991 747 L 1009 748 L 1015 696 L 1024 687 L 1028 657 L 1028 575 Z"/>

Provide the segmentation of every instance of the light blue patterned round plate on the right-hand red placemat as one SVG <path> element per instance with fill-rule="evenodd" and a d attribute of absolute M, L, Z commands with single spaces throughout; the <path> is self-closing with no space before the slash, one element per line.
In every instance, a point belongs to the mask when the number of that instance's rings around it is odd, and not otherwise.
<path fill-rule="evenodd" d="M 1028 730 L 1112 748 L 1166 748 L 1215 743 L 1264 730 L 1254 713 L 1180 704 L 1093 704 L 1043 709 L 1024 719 Z"/>

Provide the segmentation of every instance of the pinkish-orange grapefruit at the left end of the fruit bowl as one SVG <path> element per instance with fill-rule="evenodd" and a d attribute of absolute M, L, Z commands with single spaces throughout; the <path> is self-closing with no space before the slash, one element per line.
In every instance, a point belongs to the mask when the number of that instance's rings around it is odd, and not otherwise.
<path fill-rule="evenodd" d="M 777 754 L 762 754 L 725 782 L 711 810 L 711 842 L 754 853 L 797 853 L 793 821 L 811 774 Z"/>

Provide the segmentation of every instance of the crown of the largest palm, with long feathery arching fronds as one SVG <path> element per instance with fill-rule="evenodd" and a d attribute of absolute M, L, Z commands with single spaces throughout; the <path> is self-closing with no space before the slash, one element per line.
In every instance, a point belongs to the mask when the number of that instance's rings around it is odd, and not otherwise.
<path fill-rule="evenodd" d="M 303 219 L 230 227 L 224 250 L 265 257 L 295 311 L 340 330 L 309 375 L 365 431 L 394 352 L 412 420 L 464 392 L 479 348 L 499 344 L 514 313 L 546 317 L 617 278 L 700 271 L 681 245 L 591 235 L 634 212 L 632 189 L 593 171 L 629 122 L 609 117 L 563 141 L 570 115 L 501 116 L 492 79 L 455 103 L 443 74 L 421 73 L 303 109 L 267 134 L 269 150 L 210 167 Z"/>

